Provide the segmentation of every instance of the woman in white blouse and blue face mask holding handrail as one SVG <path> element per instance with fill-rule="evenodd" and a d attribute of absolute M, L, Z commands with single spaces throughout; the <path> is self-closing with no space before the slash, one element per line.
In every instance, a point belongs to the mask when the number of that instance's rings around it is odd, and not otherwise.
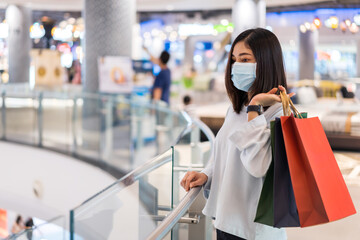
<path fill-rule="evenodd" d="M 186 173 L 181 185 L 189 191 L 206 183 L 203 213 L 215 219 L 217 239 L 286 239 L 284 230 L 254 222 L 271 162 L 270 121 L 282 115 L 276 93 L 286 88 L 281 46 L 272 32 L 250 29 L 234 40 L 225 85 L 232 107 L 213 157 L 201 173 Z"/>

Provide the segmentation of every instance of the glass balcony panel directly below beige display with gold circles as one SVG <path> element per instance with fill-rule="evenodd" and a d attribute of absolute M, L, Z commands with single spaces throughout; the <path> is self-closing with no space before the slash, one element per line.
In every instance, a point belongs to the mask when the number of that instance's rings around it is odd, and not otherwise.
<path fill-rule="evenodd" d="M 72 152 L 74 100 L 67 96 L 51 96 L 48 93 L 41 96 L 41 145 Z"/>

